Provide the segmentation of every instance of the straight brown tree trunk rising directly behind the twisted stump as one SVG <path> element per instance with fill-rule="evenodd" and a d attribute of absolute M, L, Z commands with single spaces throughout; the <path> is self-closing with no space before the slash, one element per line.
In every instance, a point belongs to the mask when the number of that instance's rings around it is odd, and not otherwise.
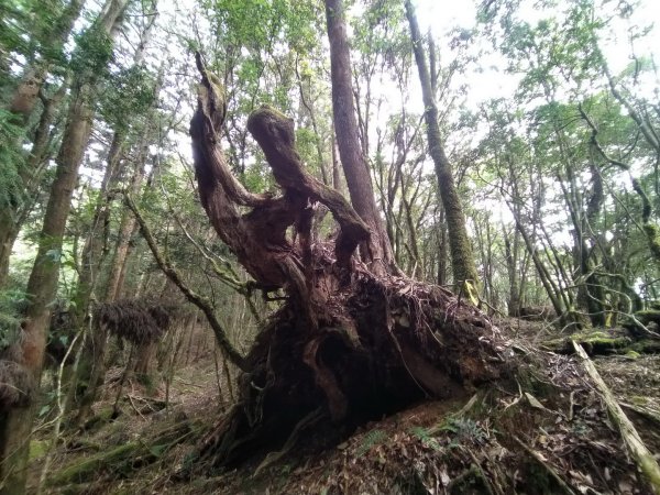
<path fill-rule="evenodd" d="M 326 0 L 326 19 L 330 41 L 330 74 L 332 78 L 332 113 L 339 155 L 343 165 L 351 204 L 369 226 L 371 240 L 361 250 L 372 270 L 397 271 L 385 226 L 376 207 L 369 167 L 359 141 L 351 57 L 342 0 Z M 377 267 L 376 265 L 381 265 Z"/>

